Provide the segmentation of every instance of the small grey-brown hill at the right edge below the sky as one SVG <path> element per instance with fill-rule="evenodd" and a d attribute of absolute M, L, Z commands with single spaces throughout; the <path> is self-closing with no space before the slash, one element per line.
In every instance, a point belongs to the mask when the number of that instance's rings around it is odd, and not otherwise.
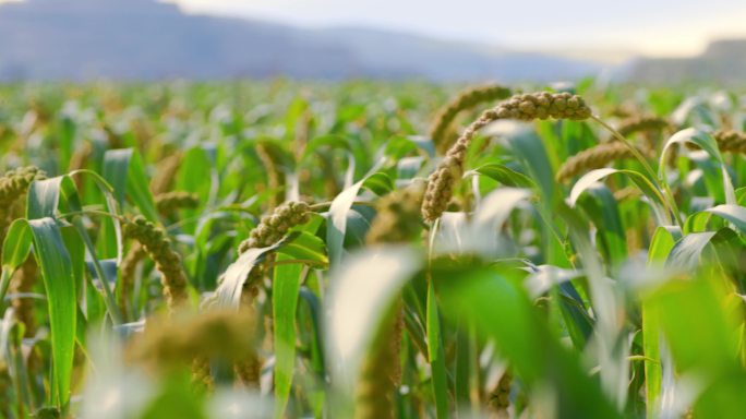
<path fill-rule="evenodd" d="M 743 83 L 746 81 L 746 39 L 713 41 L 701 55 L 691 58 L 640 59 L 631 64 L 628 77 L 650 83 Z"/>

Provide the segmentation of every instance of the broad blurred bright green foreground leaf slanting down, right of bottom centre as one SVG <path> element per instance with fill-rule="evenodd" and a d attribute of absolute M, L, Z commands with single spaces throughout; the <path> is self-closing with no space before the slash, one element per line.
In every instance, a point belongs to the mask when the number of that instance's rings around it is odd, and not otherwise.
<path fill-rule="evenodd" d="M 495 343 L 530 386 L 553 392 L 560 418 L 618 418 L 619 414 L 538 316 L 520 285 L 490 268 L 433 271 L 443 313 L 468 321 Z"/>

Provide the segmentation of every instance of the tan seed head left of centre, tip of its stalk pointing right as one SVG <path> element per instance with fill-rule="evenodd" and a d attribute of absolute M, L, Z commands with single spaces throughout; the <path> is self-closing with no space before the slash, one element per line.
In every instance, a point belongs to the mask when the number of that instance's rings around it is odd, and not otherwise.
<path fill-rule="evenodd" d="M 311 219 L 311 208 L 304 202 L 286 202 L 275 208 L 272 215 L 262 217 L 251 230 L 249 238 L 239 246 L 239 253 L 249 249 L 266 248 L 278 242 L 288 231 Z"/>

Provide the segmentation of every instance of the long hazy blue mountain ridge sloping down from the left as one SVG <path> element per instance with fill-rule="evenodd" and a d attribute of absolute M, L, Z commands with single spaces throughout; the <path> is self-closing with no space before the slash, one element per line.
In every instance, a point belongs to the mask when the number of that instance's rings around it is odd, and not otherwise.
<path fill-rule="evenodd" d="M 601 64 L 359 28 L 302 29 L 189 15 L 155 0 L 28 0 L 0 5 L 0 80 L 157 80 L 288 75 L 555 81 Z"/>

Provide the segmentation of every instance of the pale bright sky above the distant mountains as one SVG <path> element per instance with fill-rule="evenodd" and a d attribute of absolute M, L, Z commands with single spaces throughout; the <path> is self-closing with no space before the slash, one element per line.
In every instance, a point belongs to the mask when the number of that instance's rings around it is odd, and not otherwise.
<path fill-rule="evenodd" d="M 188 12 L 306 27 L 366 26 L 581 55 L 700 52 L 746 37 L 745 0 L 166 0 Z"/>

